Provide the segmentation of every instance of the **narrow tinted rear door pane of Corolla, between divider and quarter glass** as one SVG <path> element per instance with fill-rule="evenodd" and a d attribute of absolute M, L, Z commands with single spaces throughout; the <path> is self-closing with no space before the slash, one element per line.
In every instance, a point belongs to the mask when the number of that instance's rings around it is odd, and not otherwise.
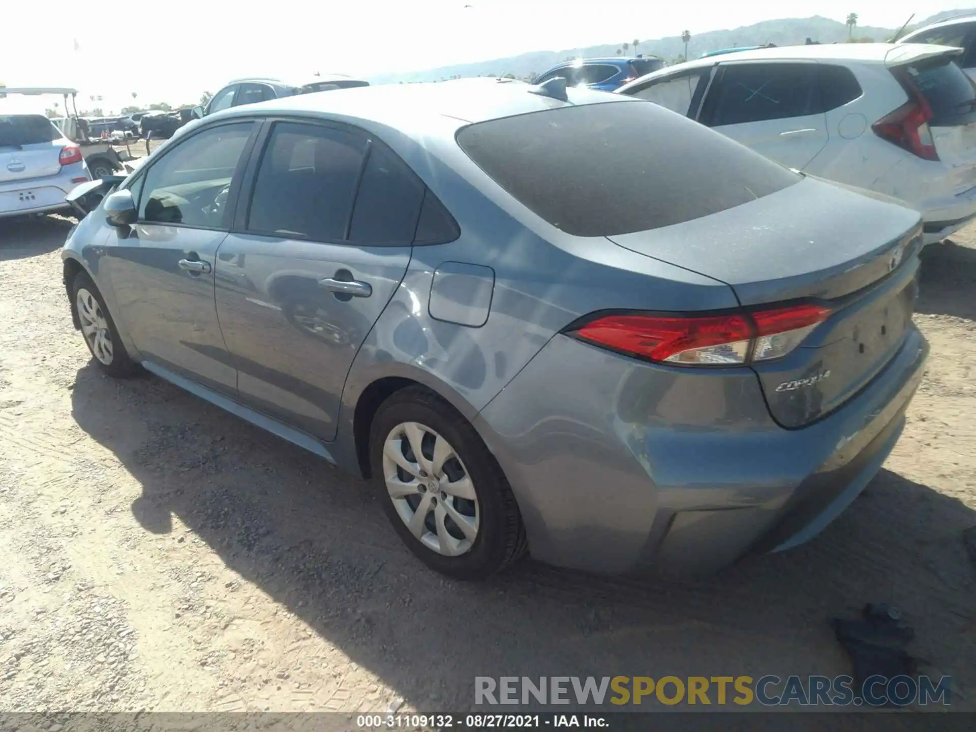
<path fill-rule="evenodd" d="M 393 153 L 370 145 L 349 224 L 349 240 L 364 246 L 409 246 L 424 202 L 424 183 Z"/>

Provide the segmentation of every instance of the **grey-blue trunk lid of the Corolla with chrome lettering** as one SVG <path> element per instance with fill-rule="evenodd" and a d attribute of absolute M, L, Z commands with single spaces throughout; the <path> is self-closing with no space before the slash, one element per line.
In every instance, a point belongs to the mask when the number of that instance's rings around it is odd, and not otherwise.
<path fill-rule="evenodd" d="M 609 238 L 725 282 L 747 309 L 831 307 L 784 358 L 752 364 L 771 415 L 793 428 L 856 394 L 904 342 L 919 234 L 918 214 L 897 202 L 807 179 L 702 219 Z"/>

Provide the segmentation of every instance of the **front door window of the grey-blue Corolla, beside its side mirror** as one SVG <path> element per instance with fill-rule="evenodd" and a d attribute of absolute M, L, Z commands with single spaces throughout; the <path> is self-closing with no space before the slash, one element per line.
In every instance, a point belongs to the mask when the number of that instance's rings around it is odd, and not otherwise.
<path fill-rule="evenodd" d="M 230 181 L 252 126 L 204 130 L 156 161 L 144 176 L 140 220 L 205 228 L 224 225 Z"/>

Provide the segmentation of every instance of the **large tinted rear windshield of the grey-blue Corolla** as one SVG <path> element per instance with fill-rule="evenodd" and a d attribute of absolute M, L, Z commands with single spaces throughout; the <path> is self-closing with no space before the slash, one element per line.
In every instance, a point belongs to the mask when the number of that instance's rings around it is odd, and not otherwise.
<path fill-rule="evenodd" d="M 653 102 L 563 106 L 469 125 L 457 139 L 516 200 L 577 236 L 680 224 L 800 180 Z"/>

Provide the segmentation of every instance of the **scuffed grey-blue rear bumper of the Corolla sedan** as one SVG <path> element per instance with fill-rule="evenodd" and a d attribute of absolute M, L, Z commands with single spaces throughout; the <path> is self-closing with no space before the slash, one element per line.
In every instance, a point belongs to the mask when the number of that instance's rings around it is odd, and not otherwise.
<path fill-rule="evenodd" d="M 858 396 L 784 429 L 751 371 L 691 374 L 557 336 L 475 427 L 508 475 L 536 558 L 709 573 L 802 544 L 857 497 L 901 433 L 927 352 L 913 327 Z M 559 386 L 581 377 L 585 389 Z"/>

